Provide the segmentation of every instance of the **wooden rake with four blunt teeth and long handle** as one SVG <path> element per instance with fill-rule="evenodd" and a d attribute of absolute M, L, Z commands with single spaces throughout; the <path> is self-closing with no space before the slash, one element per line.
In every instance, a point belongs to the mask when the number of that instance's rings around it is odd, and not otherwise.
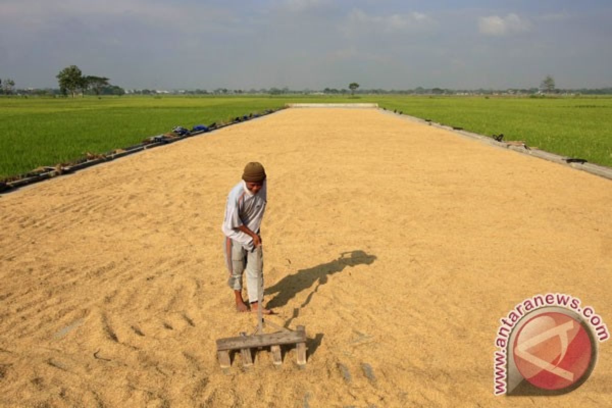
<path fill-rule="evenodd" d="M 261 246 L 256 248 L 256 251 L 261 251 Z M 217 339 L 217 357 L 221 368 L 225 373 L 228 373 L 231 368 L 230 351 L 240 350 L 242 355 L 242 365 L 244 368 L 250 368 L 253 365 L 253 356 L 251 349 L 261 349 L 270 347 L 272 353 L 272 362 L 275 367 L 280 367 L 283 363 L 282 352 L 280 346 L 285 344 L 296 344 L 297 366 L 305 368 L 306 365 L 306 329 L 304 326 L 297 326 L 296 330 L 289 330 L 285 327 L 280 327 L 273 322 L 265 322 L 261 299 L 263 298 L 263 276 L 259 273 L 258 277 L 258 296 L 257 296 L 257 327 L 252 335 L 247 335 L 246 332 L 241 332 L 237 337 L 226 337 Z M 274 333 L 264 333 L 264 327 L 272 326 L 277 330 Z"/>

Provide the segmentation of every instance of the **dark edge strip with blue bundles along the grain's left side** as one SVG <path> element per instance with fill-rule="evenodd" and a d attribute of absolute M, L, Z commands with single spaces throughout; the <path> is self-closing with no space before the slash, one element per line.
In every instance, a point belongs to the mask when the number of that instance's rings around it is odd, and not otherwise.
<path fill-rule="evenodd" d="M 265 111 L 264 113 L 257 114 L 256 116 L 253 116 L 253 117 L 248 117 L 248 119 L 242 119 L 242 121 L 234 121 L 228 124 L 220 124 L 209 130 L 199 130 L 196 132 L 190 132 L 188 135 L 178 136 L 176 138 L 168 138 L 168 137 L 163 137 L 163 136 L 151 136 L 150 139 L 155 138 L 155 141 L 152 143 L 135 144 L 130 147 L 125 147 L 125 149 L 118 149 L 118 150 L 122 150 L 121 152 L 117 152 L 117 153 L 110 154 L 110 155 L 105 155 L 104 157 L 94 158 L 92 160 L 86 160 L 81 163 L 76 163 L 75 165 L 72 165 L 72 166 L 61 166 L 60 168 L 53 167 L 53 166 L 45 166 L 45 168 L 48 169 L 48 171 L 46 172 L 42 172 L 40 174 L 36 174 L 30 177 L 23 177 L 21 179 L 13 180 L 11 182 L 0 182 L 0 196 L 7 194 L 7 193 L 12 193 L 13 191 L 16 191 L 18 188 L 25 187 L 26 185 L 34 184 L 34 183 L 41 182 L 41 181 L 48 180 L 48 179 L 53 179 L 54 177 L 61 176 L 62 174 L 72 174 L 73 172 L 83 170 L 91 166 L 99 165 L 100 163 L 106 163 L 108 161 L 113 161 L 116 158 L 125 157 L 127 155 L 138 153 L 146 149 L 152 149 L 157 146 L 171 144 L 179 140 L 187 139 L 193 136 L 200 136 L 200 135 L 203 135 L 204 133 L 213 133 L 224 127 L 241 124 L 241 123 L 248 122 L 248 121 L 253 121 L 263 116 L 267 116 L 269 114 L 276 113 L 282 109 L 285 109 L 285 108 L 267 109 L 267 111 Z"/>

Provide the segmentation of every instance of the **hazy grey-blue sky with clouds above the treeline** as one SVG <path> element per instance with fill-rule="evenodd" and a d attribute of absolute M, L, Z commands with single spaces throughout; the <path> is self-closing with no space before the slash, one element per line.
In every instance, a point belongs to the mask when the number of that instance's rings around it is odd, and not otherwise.
<path fill-rule="evenodd" d="M 0 0 L 0 78 L 126 88 L 612 86 L 611 1 Z"/>

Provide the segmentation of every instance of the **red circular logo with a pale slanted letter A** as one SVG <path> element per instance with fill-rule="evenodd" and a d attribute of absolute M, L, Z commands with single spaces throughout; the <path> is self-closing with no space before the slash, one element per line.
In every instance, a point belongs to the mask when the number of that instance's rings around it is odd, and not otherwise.
<path fill-rule="evenodd" d="M 529 319 L 520 328 L 513 354 L 524 379 L 538 388 L 561 390 L 584 376 L 591 366 L 592 347 L 581 322 L 551 311 Z"/>

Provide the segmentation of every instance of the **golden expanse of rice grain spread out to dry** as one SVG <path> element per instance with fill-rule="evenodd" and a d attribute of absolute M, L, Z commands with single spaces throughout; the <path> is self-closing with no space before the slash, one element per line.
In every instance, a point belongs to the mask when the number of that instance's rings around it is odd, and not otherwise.
<path fill-rule="evenodd" d="M 266 300 L 309 361 L 224 375 L 220 223 L 264 163 Z M 287 109 L 0 197 L 1 407 L 611 406 L 495 398 L 499 319 L 572 294 L 612 328 L 612 182 L 375 109 Z M 537 402 L 537 403 L 536 403 Z"/>

